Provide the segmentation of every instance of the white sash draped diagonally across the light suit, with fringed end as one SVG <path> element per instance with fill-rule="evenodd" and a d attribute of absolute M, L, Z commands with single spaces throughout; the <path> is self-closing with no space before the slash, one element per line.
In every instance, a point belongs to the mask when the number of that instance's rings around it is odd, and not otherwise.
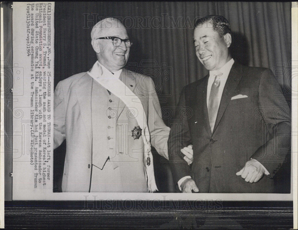
<path fill-rule="evenodd" d="M 134 111 L 134 117 L 142 129 L 142 137 L 145 146 L 143 161 L 146 168 L 145 174 L 147 179 L 147 187 L 149 192 L 158 190 L 154 178 L 150 132 L 147 125 L 146 113 L 143 109 L 140 99 L 119 78 L 115 78 L 110 71 L 102 68 L 98 61 L 95 62 L 91 71 L 88 71 L 87 73 L 100 85 L 120 98 L 120 100 L 122 100 L 129 109 Z"/>

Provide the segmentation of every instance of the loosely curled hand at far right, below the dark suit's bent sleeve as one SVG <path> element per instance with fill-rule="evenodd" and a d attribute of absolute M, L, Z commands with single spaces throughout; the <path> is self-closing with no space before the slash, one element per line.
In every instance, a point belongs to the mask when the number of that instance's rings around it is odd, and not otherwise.
<path fill-rule="evenodd" d="M 258 182 L 264 175 L 265 170 L 262 165 L 254 159 L 245 163 L 245 166 L 236 173 L 237 176 L 241 176 L 246 182 Z"/>

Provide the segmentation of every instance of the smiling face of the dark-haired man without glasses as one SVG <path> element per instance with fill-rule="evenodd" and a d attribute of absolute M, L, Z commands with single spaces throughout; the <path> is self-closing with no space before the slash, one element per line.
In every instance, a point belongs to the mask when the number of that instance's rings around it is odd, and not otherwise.
<path fill-rule="evenodd" d="M 195 28 L 193 37 L 195 53 L 207 70 L 218 70 L 232 58 L 228 49 L 232 43 L 231 35 L 227 33 L 220 37 L 210 22 Z"/>

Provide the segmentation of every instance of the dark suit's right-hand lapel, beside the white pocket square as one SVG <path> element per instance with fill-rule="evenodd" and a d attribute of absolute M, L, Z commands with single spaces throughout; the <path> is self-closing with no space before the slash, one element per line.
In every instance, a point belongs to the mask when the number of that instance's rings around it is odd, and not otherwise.
<path fill-rule="evenodd" d="M 221 103 L 219 104 L 218 113 L 213 129 L 213 133 L 217 128 L 219 122 L 221 121 L 222 116 L 228 106 L 229 102 L 231 101 L 231 96 L 236 89 L 240 79 L 242 77 L 242 68 L 238 63 L 234 63 L 232 65 L 231 71 L 229 73 L 228 79 L 226 81 L 226 85 L 224 87 L 223 94 L 221 96 Z"/>

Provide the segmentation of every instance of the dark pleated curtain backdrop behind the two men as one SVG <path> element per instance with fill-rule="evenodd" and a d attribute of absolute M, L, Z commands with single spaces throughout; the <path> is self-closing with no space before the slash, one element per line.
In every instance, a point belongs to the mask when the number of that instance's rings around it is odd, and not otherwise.
<path fill-rule="evenodd" d="M 231 52 L 236 61 L 273 71 L 288 65 L 291 2 L 56 2 L 55 86 L 92 67 L 97 60 L 91 46 L 92 26 L 114 17 L 123 21 L 134 41 L 128 68 L 152 77 L 162 108 L 173 108 L 182 88 L 207 74 L 195 56 L 193 24 L 196 17 L 210 14 L 229 20 Z M 278 73 L 287 93 L 290 75 Z M 168 124 L 168 117 L 164 118 Z M 63 165 L 59 157 L 56 161 Z M 158 174 L 165 171 L 166 179 L 158 179 L 160 184 L 167 184 L 160 185 L 161 190 L 173 191 L 168 168 L 156 170 L 160 170 Z"/>

